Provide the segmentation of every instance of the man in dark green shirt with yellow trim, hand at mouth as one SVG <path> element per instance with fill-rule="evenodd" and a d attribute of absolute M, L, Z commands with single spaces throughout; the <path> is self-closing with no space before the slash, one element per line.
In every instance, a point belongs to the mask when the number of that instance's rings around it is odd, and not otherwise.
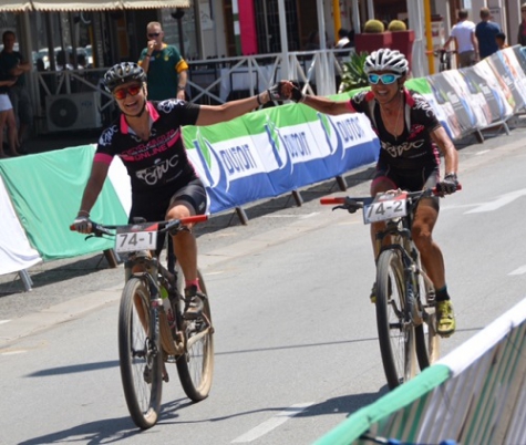
<path fill-rule="evenodd" d="M 147 46 L 141 52 L 138 64 L 148 76 L 148 99 L 185 100 L 188 64 L 177 49 L 163 42 L 164 31 L 159 22 L 146 27 Z"/>

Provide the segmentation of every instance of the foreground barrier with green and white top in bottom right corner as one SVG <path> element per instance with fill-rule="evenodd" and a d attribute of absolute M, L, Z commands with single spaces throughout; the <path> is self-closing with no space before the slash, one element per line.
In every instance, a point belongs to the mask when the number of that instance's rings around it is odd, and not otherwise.
<path fill-rule="evenodd" d="M 524 443 L 526 299 L 316 445 Z M 382 442 L 383 441 L 383 442 Z"/>

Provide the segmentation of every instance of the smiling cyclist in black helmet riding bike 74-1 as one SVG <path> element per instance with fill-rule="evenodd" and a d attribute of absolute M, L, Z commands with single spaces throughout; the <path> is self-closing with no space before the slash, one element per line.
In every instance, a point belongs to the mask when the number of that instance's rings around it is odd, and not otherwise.
<path fill-rule="evenodd" d="M 73 222 L 81 232 L 90 230 L 90 211 L 104 185 L 114 156 L 121 157 L 132 184 L 130 221 L 181 219 L 207 209 L 205 187 L 186 155 L 184 125 L 213 125 L 238 117 L 270 100 L 277 85 L 252 97 L 223 105 L 197 105 L 177 99 L 147 101 L 146 74 L 136 63 L 114 65 L 104 74 L 121 116 L 102 132 L 92 170 Z M 185 317 L 195 319 L 203 310 L 197 279 L 197 245 L 192 231 L 173 238 L 174 252 L 186 280 Z"/>

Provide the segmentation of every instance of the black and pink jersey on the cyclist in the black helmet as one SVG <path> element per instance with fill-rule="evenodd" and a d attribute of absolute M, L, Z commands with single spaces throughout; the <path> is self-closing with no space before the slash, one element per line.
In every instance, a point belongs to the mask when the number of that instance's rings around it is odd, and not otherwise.
<path fill-rule="evenodd" d="M 110 164 L 120 156 L 132 179 L 133 194 L 175 193 L 198 177 L 183 145 L 182 126 L 195 125 L 199 105 L 171 99 L 147 102 L 151 136 L 142 141 L 121 115 L 102 133 L 96 162 Z"/>

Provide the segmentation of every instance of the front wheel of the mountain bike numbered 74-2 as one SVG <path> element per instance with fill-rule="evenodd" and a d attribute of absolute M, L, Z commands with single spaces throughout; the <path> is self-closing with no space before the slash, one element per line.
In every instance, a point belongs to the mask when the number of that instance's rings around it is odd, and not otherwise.
<path fill-rule="evenodd" d="M 377 265 L 377 327 L 391 390 L 416 374 L 414 328 L 406 314 L 404 282 L 400 253 L 381 252 Z"/>

